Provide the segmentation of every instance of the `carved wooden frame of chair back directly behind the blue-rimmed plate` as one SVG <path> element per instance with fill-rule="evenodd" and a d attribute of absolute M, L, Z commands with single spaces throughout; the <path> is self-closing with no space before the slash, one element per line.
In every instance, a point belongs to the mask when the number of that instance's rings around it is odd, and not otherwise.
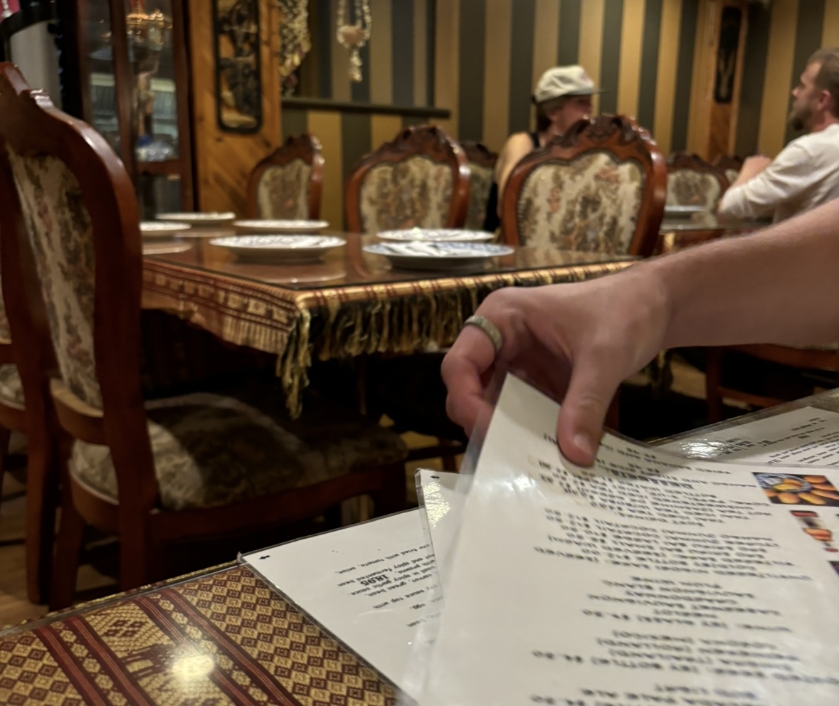
<path fill-rule="evenodd" d="M 440 164 L 451 167 L 451 206 L 445 227 L 461 227 L 466 221 L 469 207 L 469 165 L 466 154 L 442 128 L 431 125 L 405 128 L 393 142 L 383 144 L 373 154 L 368 154 L 358 163 L 347 180 L 347 195 L 344 209 L 347 214 L 347 230 L 362 233 L 362 214 L 359 205 L 362 184 L 367 172 L 373 166 L 385 162 L 396 164 L 415 154 L 423 154 Z"/>

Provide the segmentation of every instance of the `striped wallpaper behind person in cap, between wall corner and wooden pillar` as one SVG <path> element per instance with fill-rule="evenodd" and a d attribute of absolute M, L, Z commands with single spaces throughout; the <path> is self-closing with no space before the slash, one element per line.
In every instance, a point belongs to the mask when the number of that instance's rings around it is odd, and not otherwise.
<path fill-rule="evenodd" d="M 444 0 L 437 3 L 437 105 L 451 131 L 500 149 L 532 129 L 543 71 L 581 64 L 603 112 L 638 118 L 665 152 L 687 146 L 698 0 Z M 448 25 L 448 26 L 445 26 Z M 441 36 L 443 35 L 443 36 Z"/>

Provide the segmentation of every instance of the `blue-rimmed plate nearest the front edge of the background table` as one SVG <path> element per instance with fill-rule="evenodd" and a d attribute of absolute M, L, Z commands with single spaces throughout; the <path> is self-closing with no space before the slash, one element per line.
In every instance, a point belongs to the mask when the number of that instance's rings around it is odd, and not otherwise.
<path fill-rule="evenodd" d="M 363 249 L 366 253 L 383 255 L 394 266 L 406 269 L 472 267 L 515 252 L 508 245 L 492 243 L 374 243 Z"/>

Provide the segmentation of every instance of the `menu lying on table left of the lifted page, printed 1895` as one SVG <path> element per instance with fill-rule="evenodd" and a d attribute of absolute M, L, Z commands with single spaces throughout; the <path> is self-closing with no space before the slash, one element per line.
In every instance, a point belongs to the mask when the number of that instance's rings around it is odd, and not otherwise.
<path fill-rule="evenodd" d="M 420 479 L 421 474 L 421 479 Z M 399 687 L 418 626 L 440 611 L 434 542 L 445 557 L 462 494 L 455 473 L 418 472 L 425 511 L 407 510 L 240 558 L 284 598 Z"/>

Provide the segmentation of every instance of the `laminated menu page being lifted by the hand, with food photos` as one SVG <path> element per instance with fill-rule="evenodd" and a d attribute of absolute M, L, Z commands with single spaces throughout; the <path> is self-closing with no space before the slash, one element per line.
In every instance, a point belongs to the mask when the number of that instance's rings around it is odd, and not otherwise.
<path fill-rule="evenodd" d="M 839 471 L 681 458 L 508 377 L 460 511 L 422 706 L 836 706 Z M 419 676 L 418 676 L 419 675 Z"/>

